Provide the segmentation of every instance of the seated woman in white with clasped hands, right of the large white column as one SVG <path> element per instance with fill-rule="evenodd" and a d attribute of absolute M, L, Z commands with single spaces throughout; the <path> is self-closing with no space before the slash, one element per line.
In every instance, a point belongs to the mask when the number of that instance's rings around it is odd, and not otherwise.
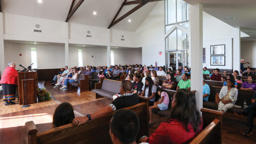
<path fill-rule="evenodd" d="M 235 106 L 237 101 L 238 90 L 235 88 L 235 80 L 228 79 L 227 86 L 224 86 L 220 90 L 218 105 L 218 111 L 227 112 L 228 109 Z"/>

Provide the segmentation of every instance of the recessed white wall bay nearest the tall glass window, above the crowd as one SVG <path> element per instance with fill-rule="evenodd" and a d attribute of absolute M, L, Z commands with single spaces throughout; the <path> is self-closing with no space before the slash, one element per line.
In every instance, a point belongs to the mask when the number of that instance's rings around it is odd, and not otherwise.
<path fill-rule="evenodd" d="M 117 65 L 142 64 L 141 49 L 112 48 L 111 50 L 114 50 L 114 63 Z"/>

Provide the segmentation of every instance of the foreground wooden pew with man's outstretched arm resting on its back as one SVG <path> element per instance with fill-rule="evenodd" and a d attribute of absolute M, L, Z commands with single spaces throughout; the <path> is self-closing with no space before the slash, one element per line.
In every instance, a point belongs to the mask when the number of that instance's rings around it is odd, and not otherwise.
<path fill-rule="evenodd" d="M 142 99 L 143 100 L 143 99 Z M 141 136 L 148 136 L 148 103 L 140 102 L 124 109 L 133 110 L 139 118 L 139 132 L 136 142 Z M 66 124 L 44 132 L 38 132 L 33 121 L 25 123 L 28 137 L 25 144 L 112 144 L 109 135 L 109 123 L 114 112 L 86 122 L 79 127 Z"/>

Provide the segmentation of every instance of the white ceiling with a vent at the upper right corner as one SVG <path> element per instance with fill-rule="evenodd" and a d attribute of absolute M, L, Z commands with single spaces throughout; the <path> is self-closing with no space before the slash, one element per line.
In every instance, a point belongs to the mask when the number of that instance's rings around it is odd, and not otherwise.
<path fill-rule="evenodd" d="M 244 41 L 256 40 L 256 0 L 184 0 L 190 4 L 201 3 L 203 11 L 233 26 L 251 37 L 241 38 Z M 225 17 L 233 20 L 223 20 Z"/>

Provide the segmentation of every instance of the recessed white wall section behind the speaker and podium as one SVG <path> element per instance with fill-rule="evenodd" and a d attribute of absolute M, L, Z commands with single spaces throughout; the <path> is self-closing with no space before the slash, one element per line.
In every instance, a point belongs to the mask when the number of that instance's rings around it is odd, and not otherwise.
<path fill-rule="evenodd" d="M 38 69 L 64 67 L 64 44 L 63 45 L 30 45 L 4 43 L 4 61 L 16 62 L 16 69 L 21 69 L 18 65 L 29 66 L 31 64 L 31 48 L 37 50 Z M 19 56 L 19 54 L 22 56 Z"/>

